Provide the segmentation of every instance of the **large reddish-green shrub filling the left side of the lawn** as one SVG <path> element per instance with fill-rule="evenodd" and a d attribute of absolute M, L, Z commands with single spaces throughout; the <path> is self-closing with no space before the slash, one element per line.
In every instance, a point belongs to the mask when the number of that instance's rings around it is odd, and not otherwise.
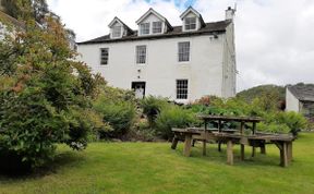
<path fill-rule="evenodd" d="M 80 150 L 92 131 L 105 128 L 92 110 L 105 82 L 74 60 L 58 20 L 46 17 L 39 27 L 28 7 L 19 8 L 25 28 L 0 44 L 0 151 L 38 167 L 57 143 Z"/>

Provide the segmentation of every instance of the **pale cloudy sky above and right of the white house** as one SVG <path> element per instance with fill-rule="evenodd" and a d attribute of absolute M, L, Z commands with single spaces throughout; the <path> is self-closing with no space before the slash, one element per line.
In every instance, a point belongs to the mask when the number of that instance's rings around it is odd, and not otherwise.
<path fill-rule="evenodd" d="M 237 92 L 262 84 L 314 83 L 314 0 L 48 0 L 77 41 L 109 33 L 114 16 L 131 28 L 149 8 L 181 25 L 192 5 L 205 22 L 237 4 Z"/>

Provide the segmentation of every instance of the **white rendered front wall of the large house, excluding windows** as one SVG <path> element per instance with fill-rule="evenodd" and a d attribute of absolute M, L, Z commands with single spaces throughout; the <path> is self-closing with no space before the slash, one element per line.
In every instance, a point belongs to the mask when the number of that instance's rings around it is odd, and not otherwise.
<path fill-rule="evenodd" d="M 178 43 L 190 41 L 190 62 L 178 62 Z M 189 102 L 205 95 L 222 96 L 224 39 L 197 36 L 158 40 L 78 45 L 78 52 L 94 72 L 114 87 L 131 89 L 132 82 L 146 82 L 146 96 L 176 100 L 176 81 L 189 80 Z M 136 64 L 135 47 L 147 46 L 146 64 Z M 109 48 L 109 64 L 100 65 L 100 48 Z M 140 76 L 140 78 L 138 78 Z"/>

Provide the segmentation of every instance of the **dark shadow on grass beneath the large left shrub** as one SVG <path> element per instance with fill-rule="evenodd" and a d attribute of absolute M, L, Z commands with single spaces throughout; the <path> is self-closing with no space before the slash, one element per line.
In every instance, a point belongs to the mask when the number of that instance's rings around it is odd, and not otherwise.
<path fill-rule="evenodd" d="M 4 158 L 5 159 L 5 158 Z M 3 162 L 3 157 L 0 157 L 0 162 Z M 25 179 L 39 179 L 41 177 L 57 173 L 58 170 L 63 168 L 71 168 L 80 166 L 84 160 L 84 157 L 76 151 L 64 151 L 57 154 L 55 159 L 45 163 L 43 167 L 31 170 L 29 166 L 23 165 L 19 168 L 16 163 L 1 163 L 0 168 L 0 181 L 5 182 L 7 179 L 25 180 Z M 10 161 L 9 161 L 10 162 Z M 9 167 L 5 168 L 5 165 Z M 4 166 L 4 167 L 3 167 Z M 11 167 L 10 167 L 11 166 Z"/>

